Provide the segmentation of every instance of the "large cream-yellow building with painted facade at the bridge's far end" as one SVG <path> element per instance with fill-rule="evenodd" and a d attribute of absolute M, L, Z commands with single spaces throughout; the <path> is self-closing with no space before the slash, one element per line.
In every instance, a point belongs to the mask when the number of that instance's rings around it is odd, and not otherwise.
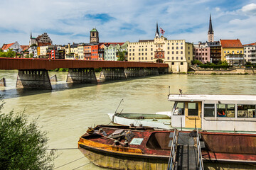
<path fill-rule="evenodd" d="M 159 35 L 159 34 L 158 34 Z M 154 40 L 128 42 L 128 61 L 160 62 L 169 64 L 171 72 L 188 72 L 193 60 L 193 45 L 185 40 L 167 40 L 156 36 Z"/>

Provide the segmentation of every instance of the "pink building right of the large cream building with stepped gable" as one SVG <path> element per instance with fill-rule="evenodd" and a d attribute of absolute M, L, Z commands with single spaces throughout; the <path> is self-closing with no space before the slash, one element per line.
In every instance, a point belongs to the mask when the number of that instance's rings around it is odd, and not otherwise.
<path fill-rule="evenodd" d="M 203 64 L 210 61 L 210 47 L 207 46 L 207 43 L 201 43 L 193 45 L 193 58 L 194 60 L 199 60 Z"/>

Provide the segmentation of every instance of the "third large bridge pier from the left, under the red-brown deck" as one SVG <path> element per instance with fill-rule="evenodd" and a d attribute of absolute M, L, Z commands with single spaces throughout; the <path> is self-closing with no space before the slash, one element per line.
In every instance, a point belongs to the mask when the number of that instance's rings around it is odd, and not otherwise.
<path fill-rule="evenodd" d="M 127 79 L 124 68 L 107 68 L 102 69 L 100 79 Z"/>

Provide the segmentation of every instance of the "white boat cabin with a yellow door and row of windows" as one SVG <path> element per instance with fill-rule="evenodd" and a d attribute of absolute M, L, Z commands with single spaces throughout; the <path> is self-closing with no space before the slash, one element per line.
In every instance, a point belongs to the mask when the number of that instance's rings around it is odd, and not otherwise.
<path fill-rule="evenodd" d="M 169 101 L 173 128 L 256 132 L 256 96 L 170 94 Z"/>

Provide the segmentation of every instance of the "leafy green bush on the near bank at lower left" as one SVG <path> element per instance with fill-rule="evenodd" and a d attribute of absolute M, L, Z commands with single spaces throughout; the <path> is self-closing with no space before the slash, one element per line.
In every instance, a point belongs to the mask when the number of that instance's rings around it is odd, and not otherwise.
<path fill-rule="evenodd" d="M 36 120 L 28 122 L 28 116 L 11 111 L 1 113 L 0 105 L 0 169 L 53 169 L 55 154 L 48 153 L 46 132 L 42 132 Z"/>

